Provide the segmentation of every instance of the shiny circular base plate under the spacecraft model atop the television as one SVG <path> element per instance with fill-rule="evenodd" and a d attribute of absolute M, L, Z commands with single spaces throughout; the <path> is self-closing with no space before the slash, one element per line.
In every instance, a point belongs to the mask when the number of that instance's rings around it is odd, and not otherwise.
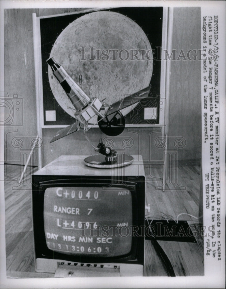
<path fill-rule="evenodd" d="M 133 162 L 131 155 L 117 154 L 117 161 L 114 163 L 106 162 L 105 155 L 91 155 L 85 158 L 86 166 L 93 168 L 116 168 L 120 166 L 127 166 Z"/>

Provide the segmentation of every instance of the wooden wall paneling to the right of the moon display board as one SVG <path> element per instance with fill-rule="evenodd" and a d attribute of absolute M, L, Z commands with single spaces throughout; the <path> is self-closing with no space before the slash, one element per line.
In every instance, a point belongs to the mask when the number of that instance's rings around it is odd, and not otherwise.
<path fill-rule="evenodd" d="M 172 49 L 201 48 L 200 8 L 174 8 Z M 194 52 L 193 52 L 194 53 Z M 191 53 L 191 55 L 193 55 Z M 201 158 L 201 62 L 172 60 L 169 136 L 182 136 L 187 144 L 178 149 L 178 160 Z"/>

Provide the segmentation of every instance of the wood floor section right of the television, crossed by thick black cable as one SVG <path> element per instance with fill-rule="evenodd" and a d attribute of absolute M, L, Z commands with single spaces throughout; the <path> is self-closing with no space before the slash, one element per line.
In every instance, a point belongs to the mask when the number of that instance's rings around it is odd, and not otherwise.
<path fill-rule="evenodd" d="M 166 184 L 163 192 L 159 189 L 163 183 L 162 169 L 145 168 L 146 203 L 150 204 L 150 213 L 146 214 L 152 214 L 155 219 L 161 219 L 163 214 L 171 215 L 174 220 L 181 213 L 199 216 L 200 166 L 182 166 L 175 170 L 175 184 Z M 189 225 L 194 226 L 199 224 L 197 219 L 189 215 L 181 215 L 178 220 L 188 221 Z M 197 237 L 196 240 L 197 243 L 158 241 L 167 254 L 176 276 L 204 275 L 203 238 Z M 146 240 L 145 244 L 144 274 L 167 276 L 162 260 L 150 240 Z"/>

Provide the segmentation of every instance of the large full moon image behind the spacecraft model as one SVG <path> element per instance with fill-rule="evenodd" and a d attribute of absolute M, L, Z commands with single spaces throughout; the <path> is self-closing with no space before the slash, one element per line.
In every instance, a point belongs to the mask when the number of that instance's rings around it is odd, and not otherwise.
<path fill-rule="evenodd" d="M 146 88 L 152 76 L 146 34 L 135 21 L 116 12 L 92 12 L 77 18 L 58 36 L 50 57 L 90 98 L 105 99 L 109 105 Z M 48 77 L 55 99 L 74 117 L 73 106 L 50 67 Z"/>

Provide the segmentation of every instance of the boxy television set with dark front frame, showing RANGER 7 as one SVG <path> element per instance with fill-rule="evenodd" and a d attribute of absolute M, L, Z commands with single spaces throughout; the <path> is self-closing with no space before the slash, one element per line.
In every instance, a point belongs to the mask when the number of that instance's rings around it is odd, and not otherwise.
<path fill-rule="evenodd" d="M 114 168 L 57 158 L 32 175 L 35 270 L 68 276 L 142 276 L 142 156 Z"/>

